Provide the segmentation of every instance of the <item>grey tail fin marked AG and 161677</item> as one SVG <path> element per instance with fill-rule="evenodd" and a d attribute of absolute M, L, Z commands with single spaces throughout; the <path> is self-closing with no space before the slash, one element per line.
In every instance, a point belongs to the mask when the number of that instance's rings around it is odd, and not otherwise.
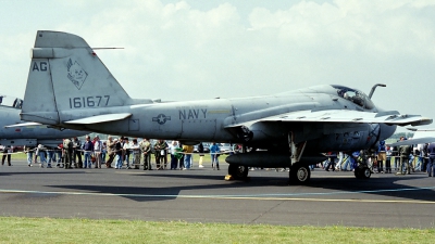
<path fill-rule="evenodd" d="M 65 111 L 133 102 L 86 41 L 75 35 L 39 30 L 22 108 L 22 119 L 59 125 Z M 67 113 L 66 113 L 67 114 Z"/>

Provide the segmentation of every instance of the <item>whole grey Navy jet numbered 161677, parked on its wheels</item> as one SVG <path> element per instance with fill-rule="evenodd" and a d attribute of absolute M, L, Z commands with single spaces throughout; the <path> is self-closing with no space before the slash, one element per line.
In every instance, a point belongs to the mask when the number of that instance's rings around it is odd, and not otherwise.
<path fill-rule="evenodd" d="M 145 86 L 144 86 L 145 87 Z M 32 49 L 21 117 L 61 128 L 179 140 L 241 143 L 261 149 L 231 155 L 228 174 L 248 167 L 289 167 L 296 183 L 310 180 L 321 153 L 375 146 L 397 126 L 432 123 L 382 111 L 370 95 L 345 86 L 316 86 L 273 95 L 154 102 L 132 99 L 80 37 L 39 30 Z M 47 95 L 39 95 L 45 91 Z M 369 168 L 356 171 L 369 178 Z"/>

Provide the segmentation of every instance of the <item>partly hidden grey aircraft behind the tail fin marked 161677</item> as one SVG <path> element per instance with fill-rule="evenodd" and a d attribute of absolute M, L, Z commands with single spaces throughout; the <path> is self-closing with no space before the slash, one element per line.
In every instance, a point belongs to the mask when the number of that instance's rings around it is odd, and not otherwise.
<path fill-rule="evenodd" d="M 36 146 L 44 144 L 55 147 L 63 138 L 86 133 L 71 129 L 61 131 L 39 123 L 23 124 L 24 121 L 20 119 L 22 105 L 22 99 L 0 94 L 0 145 Z M 20 126 L 13 126 L 16 124 Z"/>

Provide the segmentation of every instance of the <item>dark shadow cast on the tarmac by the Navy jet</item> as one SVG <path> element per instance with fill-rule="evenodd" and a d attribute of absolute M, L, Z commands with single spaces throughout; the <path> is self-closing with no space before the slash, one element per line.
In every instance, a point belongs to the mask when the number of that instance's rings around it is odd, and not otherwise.
<path fill-rule="evenodd" d="M 358 194 L 374 194 L 382 196 L 395 197 L 391 200 L 412 200 L 421 202 L 433 202 L 435 201 L 433 187 L 433 178 L 427 178 L 423 176 L 384 176 L 381 178 L 371 179 L 355 179 L 355 178 L 312 178 L 309 185 L 289 185 L 286 178 L 279 177 L 252 177 L 250 181 L 224 181 L 222 176 L 204 176 L 204 175 L 165 175 L 165 174 L 153 174 L 153 175 L 134 175 L 135 177 L 154 177 L 154 178 L 182 178 L 186 179 L 186 185 L 172 185 L 172 187 L 161 187 L 158 183 L 154 187 L 116 187 L 116 185 L 48 185 L 54 188 L 72 189 L 86 192 L 97 192 L 101 194 L 113 194 L 126 198 L 130 198 L 138 202 L 148 201 L 165 201 L 174 200 L 181 196 L 183 191 L 198 191 L 207 190 L 207 196 L 209 197 L 243 197 L 244 194 L 248 195 L 246 192 L 249 188 L 260 188 L 256 191 L 256 197 L 262 197 L 271 195 L 275 197 L 315 197 L 315 195 L 328 195 L 328 197 L 343 198 L 360 198 Z M 198 183 L 190 184 L 189 180 L 208 180 L 207 184 L 200 185 Z M 430 181 L 430 182 L 428 182 Z M 407 184 L 410 182 L 410 184 Z M 432 182 L 432 183 L 431 183 Z M 412 184 L 412 185 L 411 185 Z M 264 187 L 264 188 L 262 188 Z M 268 191 L 269 187 L 283 187 L 279 188 L 278 193 L 276 193 L 276 188 L 274 192 Z M 297 194 L 295 193 L 295 188 L 297 188 Z M 210 190 L 210 191 L 209 191 Z M 213 192 L 213 190 L 219 190 Z M 222 190 L 225 193 L 222 194 Z M 219 193 L 217 193 L 219 192 Z M 195 197 L 195 193 L 188 193 L 187 196 Z M 215 195 L 214 195 L 215 194 Z M 344 196 L 347 194 L 348 196 Z M 199 193 L 198 193 L 199 195 Z M 185 194 L 183 196 L 186 196 Z M 206 196 L 206 195 L 204 195 Z"/>

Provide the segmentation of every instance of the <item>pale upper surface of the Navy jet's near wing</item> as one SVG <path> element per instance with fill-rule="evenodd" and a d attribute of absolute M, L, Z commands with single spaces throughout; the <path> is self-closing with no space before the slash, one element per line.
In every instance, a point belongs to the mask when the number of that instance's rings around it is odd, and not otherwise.
<path fill-rule="evenodd" d="M 421 115 L 400 115 L 396 111 L 371 113 L 349 110 L 298 111 L 259 119 L 259 121 L 382 123 L 398 126 L 432 124 Z"/>

